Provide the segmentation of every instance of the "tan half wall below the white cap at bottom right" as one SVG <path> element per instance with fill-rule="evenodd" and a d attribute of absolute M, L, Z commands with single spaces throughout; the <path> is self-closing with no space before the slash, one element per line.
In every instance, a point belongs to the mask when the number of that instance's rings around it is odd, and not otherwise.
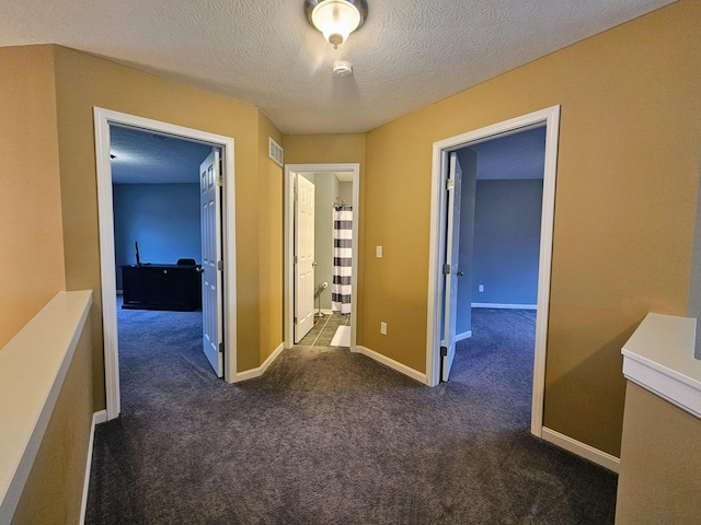
<path fill-rule="evenodd" d="M 628 384 L 616 523 L 701 518 L 701 420 Z"/>

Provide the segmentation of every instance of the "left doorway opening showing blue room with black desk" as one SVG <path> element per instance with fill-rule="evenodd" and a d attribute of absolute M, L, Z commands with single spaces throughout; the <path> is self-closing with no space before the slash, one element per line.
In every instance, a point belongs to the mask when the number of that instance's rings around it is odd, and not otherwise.
<path fill-rule="evenodd" d="M 209 287 L 202 277 L 199 171 L 214 153 L 135 128 L 111 126 L 110 137 L 119 378 L 128 407 L 136 389 L 158 385 L 153 378 L 171 375 L 179 358 L 202 361 L 211 347 L 203 340 Z M 219 357 L 205 354 L 221 376 Z"/>

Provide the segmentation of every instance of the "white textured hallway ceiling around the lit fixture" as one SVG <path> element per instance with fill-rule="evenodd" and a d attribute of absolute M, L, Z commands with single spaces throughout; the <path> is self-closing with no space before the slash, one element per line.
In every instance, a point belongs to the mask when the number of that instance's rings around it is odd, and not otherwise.
<path fill-rule="evenodd" d="M 368 0 L 334 50 L 303 0 L 0 0 L 0 46 L 107 57 L 254 104 L 286 135 L 361 132 L 671 2 Z"/>

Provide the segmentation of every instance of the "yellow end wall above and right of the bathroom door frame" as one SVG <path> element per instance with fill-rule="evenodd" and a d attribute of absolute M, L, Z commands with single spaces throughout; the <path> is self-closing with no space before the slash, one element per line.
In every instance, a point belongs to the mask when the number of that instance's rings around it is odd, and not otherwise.
<path fill-rule="evenodd" d="M 366 133 L 341 133 L 341 135 L 288 135 L 285 136 L 283 147 L 285 149 L 286 164 L 343 164 L 357 163 L 360 165 L 359 191 L 359 223 L 358 237 L 364 238 L 364 191 L 365 191 L 365 149 Z M 361 242 L 361 241 L 360 241 Z M 363 331 L 363 278 L 365 254 L 363 244 L 358 245 L 358 315 L 356 329 L 358 335 Z M 358 345 L 364 345 L 358 338 Z"/>

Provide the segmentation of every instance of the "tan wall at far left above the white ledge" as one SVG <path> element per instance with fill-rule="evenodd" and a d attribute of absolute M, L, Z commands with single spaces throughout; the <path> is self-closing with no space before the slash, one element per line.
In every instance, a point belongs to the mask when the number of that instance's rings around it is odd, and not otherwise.
<path fill-rule="evenodd" d="M 0 349 L 66 287 L 54 56 L 0 48 Z"/>

